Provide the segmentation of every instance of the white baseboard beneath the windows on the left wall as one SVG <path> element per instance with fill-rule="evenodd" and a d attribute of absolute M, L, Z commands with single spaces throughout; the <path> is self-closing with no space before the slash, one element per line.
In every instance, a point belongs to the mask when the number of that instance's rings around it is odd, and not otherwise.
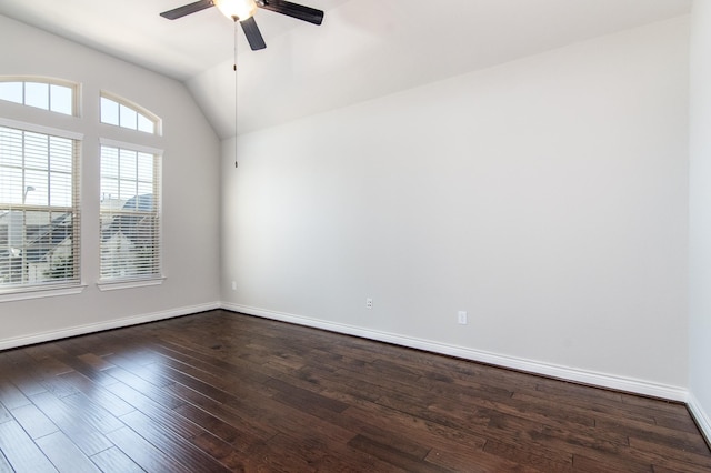
<path fill-rule="evenodd" d="M 219 302 L 207 304 L 189 305 L 184 308 L 170 309 L 167 311 L 152 312 L 126 319 L 116 319 L 107 322 L 91 323 L 87 325 L 78 325 L 69 329 L 62 329 L 51 332 L 36 333 L 32 335 L 18 336 L 14 339 L 0 340 L 0 350 L 14 349 L 18 346 L 32 345 L 34 343 L 49 342 L 52 340 L 68 339 L 70 336 L 86 335 L 87 333 L 101 332 L 103 330 L 120 329 L 122 326 L 138 325 L 146 322 L 154 322 L 163 319 L 172 319 L 176 316 L 193 314 L 198 312 L 211 311 L 220 309 Z"/>

